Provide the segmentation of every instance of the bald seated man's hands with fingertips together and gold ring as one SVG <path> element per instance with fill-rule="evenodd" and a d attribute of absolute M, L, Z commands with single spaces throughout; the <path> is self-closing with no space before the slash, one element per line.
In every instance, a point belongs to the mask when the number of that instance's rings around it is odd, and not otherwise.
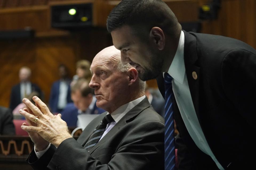
<path fill-rule="evenodd" d="M 33 97 L 33 101 L 35 105 L 24 98 L 26 108 L 19 112 L 27 120 L 27 124 L 23 123 L 21 129 L 29 133 L 37 151 L 46 149 L 49 142 L 58 147 L 62 141 L 72 137 L 66 122 L 61 119 L 61 114 L 53 115 L 37 96 Z"/>

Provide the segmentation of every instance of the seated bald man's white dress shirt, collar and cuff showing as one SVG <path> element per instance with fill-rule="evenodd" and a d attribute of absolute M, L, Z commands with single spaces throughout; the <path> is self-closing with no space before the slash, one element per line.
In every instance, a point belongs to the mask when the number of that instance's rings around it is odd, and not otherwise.
<path fill-rule="evenodd" d="M 145 97 L 146 96 L 142 96 L 142 97 L 139 97 L 138 99 L 130 101 L 129 103 L 126 103 L 126 104 L 120 106 L 113 113 L 111 113 L 111 116 L 113 117 L 114 121 L 107 124 L 106 130 L 104 131 L 101 139 L 115 126 L 115 124 L 117 124 L 117 122 L 119 120 L 121 120 L 122 117 L 125 116 L 126 113 L 128 113 L 132 108 L 134 108 L 143 99 L 145 99 Z M 107 114 L 110 114 L 110 113 L 107 112 Z M 99 139 L 99 140 L 101 140 L 101 139 Z M 37 152 L 34 147 L 35 154 L 36 154 L 37 158 L 38 159 L 41 158 L 41 156 L 50 148 L 50 146 L 51 146 L 51 144 L 49 144 L 45 150 L 40 151 L 40 152 Z"/>

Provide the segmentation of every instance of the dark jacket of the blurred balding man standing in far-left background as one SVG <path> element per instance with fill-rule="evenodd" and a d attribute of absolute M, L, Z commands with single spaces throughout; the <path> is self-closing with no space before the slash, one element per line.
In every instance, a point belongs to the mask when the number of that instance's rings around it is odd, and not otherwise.
<path fill-rule="evenodd" d="M 37 91 L 42 97 L 41 89 L 36 84 L 31 83 L 31 92 L 33 91 Z M 21 102 L 21 85 L 19 83 L 11 89 L 10 109 L 13 111 Z"/>

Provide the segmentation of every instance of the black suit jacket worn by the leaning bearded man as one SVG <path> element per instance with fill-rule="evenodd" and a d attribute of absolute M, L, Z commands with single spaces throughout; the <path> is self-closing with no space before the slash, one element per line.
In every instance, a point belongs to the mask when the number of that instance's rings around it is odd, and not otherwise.
<path fill-rule="evenodd" d="M 194 108 L 207 143 L 225 169 L 255 167 L 256 50 L 223 36 L 185 32 L 184 62 Z M 197 79 L 192 72 L 197 73 Z M 158 87 L 164 96 L 162 74 Z M 173 97 L 179 169 L 217 169 L 195 145 Z"/>

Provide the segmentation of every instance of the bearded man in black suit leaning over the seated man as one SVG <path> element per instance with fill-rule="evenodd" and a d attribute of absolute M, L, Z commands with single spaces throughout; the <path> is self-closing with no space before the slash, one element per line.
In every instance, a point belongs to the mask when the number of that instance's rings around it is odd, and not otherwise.
<path fill-rule="evenodd" d="M 174 113 L 179 131 L 178 169 L 255 167 L 255 49 L 236 39 L 183 31 L 161 0 L 121 1 L 107 29 L 123 64 L 133 65 L 142 80 L 158 77 L 165 115 Z M 171 158 L 165 158 L 169 170 Z"/>

